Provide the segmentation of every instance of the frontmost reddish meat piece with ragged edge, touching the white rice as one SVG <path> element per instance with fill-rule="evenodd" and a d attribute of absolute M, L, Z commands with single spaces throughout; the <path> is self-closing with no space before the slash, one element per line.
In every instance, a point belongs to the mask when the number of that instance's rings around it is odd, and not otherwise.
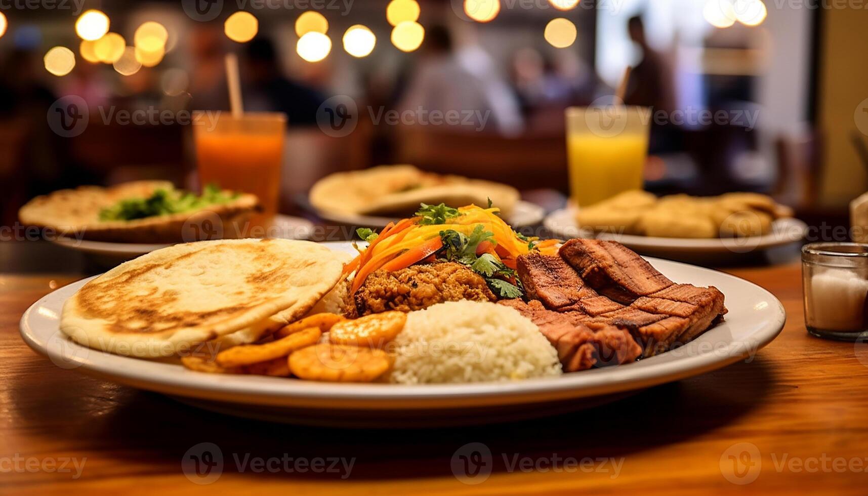
<path fill-rule="evenodd" d="M 582 323 L 588 316 L 579 312 L 558 313 L 546 309 L 540 301 L 503 300 L 501 304 L 516 308 L 540 328 L 542 335 L 557 350 L 564 372 L 591 367 L 629 363 L 641 354 L 628 330 L 595 323 Z"/>

